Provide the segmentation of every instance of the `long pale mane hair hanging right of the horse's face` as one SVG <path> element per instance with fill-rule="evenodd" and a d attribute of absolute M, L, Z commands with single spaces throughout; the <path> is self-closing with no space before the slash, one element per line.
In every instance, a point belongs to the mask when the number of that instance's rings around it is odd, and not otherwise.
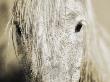
<path fill-rule="evenodd" d="M 90 73 L 94 72 L 93 78 L 96 79 L 98 77 L 99 81 L 96 82 L 109 82 L 110 76 L 110 38 L 109 33 L 105 30 L 105 28 L 99 24 L 95 18 L 93 6 L 91 0 L 86 0 L 86 8 L 87 8 L 87 38 L 86 38 L 86 54 L 87 61 L 92 62 L 89 63 L 89 66 L 86 71 Z M 89 59 L 90 58 L 90 59 Z M 93 66 L 90 66 L 93 65 Z M 94 68 L 94 69 L 93 69 Z M 97 71 L 97 72 L 96 72 Z M 89 82 L 89 81 L 87 81 Z M 93 81 L 94 82 L 94 81 Z"/>

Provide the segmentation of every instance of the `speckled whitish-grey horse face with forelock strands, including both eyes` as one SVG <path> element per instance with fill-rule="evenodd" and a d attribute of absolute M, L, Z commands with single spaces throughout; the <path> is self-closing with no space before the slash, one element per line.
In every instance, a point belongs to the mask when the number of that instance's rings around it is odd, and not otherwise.
<path fill-rule="evenodd" d="M 37 81 L 78 81 L 85 48 L 83 2 L 33 0 L 28 3 L 18 1 L 13 12 L 23 65 L 32 70 L 32 78 Z"/>

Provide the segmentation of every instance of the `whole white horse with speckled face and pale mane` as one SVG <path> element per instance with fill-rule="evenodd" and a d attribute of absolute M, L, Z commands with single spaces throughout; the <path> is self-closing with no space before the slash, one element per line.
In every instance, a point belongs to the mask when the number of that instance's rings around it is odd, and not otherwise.
<path fill-rule="evenodd" d="M 15 0 L 11 14 L 26 82 L 110 81 L 109 38 L 96 28 L 90 0 Z"/>

